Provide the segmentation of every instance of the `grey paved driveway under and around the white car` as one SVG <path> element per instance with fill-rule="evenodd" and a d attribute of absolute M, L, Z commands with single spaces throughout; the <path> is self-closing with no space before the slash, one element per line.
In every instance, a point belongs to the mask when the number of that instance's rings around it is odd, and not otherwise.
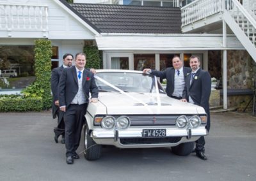
<path fill-rule="evenodd" d="M 169 148 L 104 148 L 98 161 L 65 163 L 51 112 L 0 113 L 0 180 L 255 180 L 256 119 L 212 114 L 207 161 L 175 156 Z M 79 147 L 79 152 L 83 148 Z"/>

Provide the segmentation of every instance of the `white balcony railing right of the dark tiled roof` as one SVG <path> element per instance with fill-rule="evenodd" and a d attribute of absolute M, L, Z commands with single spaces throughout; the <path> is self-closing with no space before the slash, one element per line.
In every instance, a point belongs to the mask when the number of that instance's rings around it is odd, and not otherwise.
<path fill-rule="evenodd" d="M 181 8 L 182 26 L 222 11 L 222 0 L 197 0 Z"/>

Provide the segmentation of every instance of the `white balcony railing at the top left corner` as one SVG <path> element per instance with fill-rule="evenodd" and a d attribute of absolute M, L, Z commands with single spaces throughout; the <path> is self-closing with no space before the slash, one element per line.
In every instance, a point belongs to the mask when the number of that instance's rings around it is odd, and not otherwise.
<path fill-rule="evenodd" d="M 48 7 L 0 3 L 0 31 L 47 31 Z"/>

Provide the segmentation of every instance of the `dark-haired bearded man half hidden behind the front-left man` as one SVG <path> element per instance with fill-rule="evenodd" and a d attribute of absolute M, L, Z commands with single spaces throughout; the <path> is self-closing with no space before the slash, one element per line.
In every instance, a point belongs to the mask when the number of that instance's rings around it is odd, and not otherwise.
<path fill-rule="evenodd" d="M 72 66 L 74 57 L 72 54 L 63 55 L 63 65 L 52 69 L 51 75 L 51 89 L 52 89 L 52 117 L 55 119 L 58 117 L 58 125 L 54 127 L 54 140 L 58 143 L 58 137 L 62 135 L 61 143 L 65 143 L 65 122 L 63 120 L 63 112 L 59 108 L 58 100 L 58 85 L 60 82 L 60 76 L 64 68 Z"/>

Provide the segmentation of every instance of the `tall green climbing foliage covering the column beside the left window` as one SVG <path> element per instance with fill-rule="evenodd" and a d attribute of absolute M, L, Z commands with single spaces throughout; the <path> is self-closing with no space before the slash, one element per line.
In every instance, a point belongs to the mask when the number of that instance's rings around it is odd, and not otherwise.
<path fill-rule="evenodd" d="M 51 108 L 51 41 L 36 40 L 34 51 L 36 80 L 22 94 L 25 98 L 41 98 L 43 109 Z"/>

